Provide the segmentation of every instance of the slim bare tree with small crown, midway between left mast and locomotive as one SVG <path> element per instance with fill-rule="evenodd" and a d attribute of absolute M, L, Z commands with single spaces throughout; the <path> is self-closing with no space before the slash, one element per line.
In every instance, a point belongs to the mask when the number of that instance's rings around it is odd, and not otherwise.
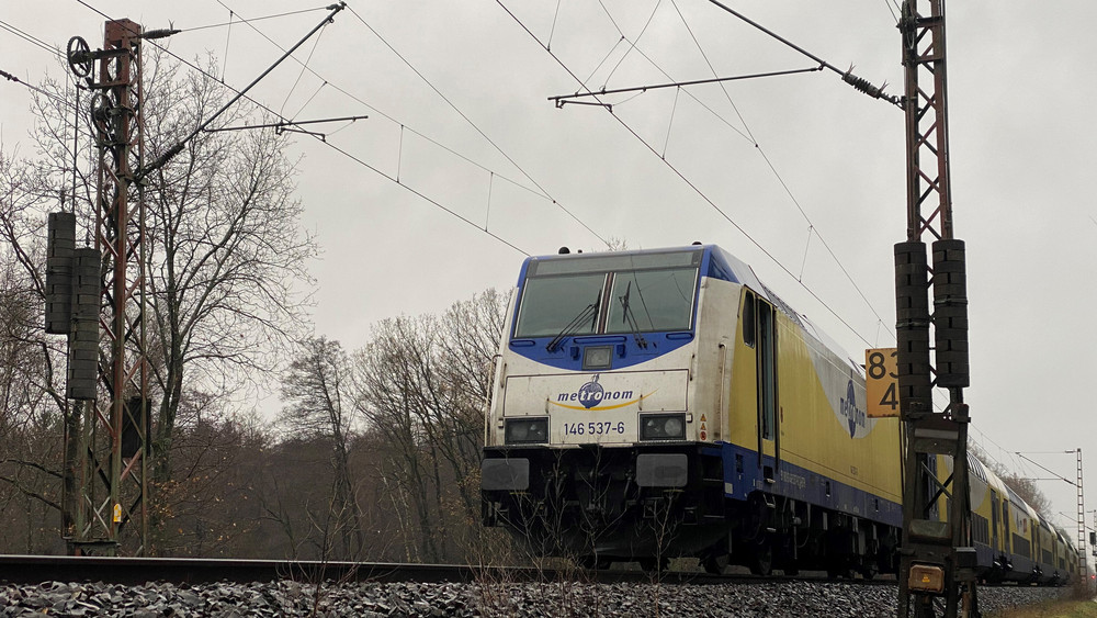
<path fill-rule="evenodd" d="M 323 532 L 327 537 L 336 531 L 344 557 L 358 558 L 363 538 L 350 473 L 353 407 L 344 404 L 348 358 L 338 341 L 324 337 L 310 338 L 302 348 L 301 356 L 282 379 L 282 398 L 289 405 L 282 408 L 279 419 L 297 437 L 321 439 L 330 445 L 331 508 L 324 514 Z"/>

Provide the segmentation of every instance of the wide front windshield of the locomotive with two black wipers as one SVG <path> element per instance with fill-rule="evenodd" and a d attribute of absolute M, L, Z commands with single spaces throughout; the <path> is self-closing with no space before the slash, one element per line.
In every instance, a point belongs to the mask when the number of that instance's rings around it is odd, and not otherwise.
<path fill-rule="evenodd" d="M 530 263 L 514 337 L 689 330 L 700 250 Z"/>

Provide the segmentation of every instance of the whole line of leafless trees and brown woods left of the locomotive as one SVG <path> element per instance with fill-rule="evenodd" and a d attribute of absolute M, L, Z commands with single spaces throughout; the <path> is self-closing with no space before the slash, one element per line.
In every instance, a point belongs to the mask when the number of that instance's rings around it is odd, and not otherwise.
<path fill-rule="evenodd" d="M 145 49 L 146 159 L 231 95 Z M 205 60 L 208 75 L 215 64 Z M 64 69 L 63 69 L 64 70 Z M 65 469 L 77 409 L 66 341 L 43 330 L 46 217 L 95 228 L 97 132 L 73 91 L 45 79 L 37 123 L 0 144 L 0 552 L 61 553 L 77 486 Z M 216 126 L 262 124 L 241 102 Z M 73 144 L 82 145 L 73 149 Z M 441 314 L 393 317 L 347 350 L 308 326 L 298 161 L 273 131 L 200 133 L 146 177 L 150 362 L 147 553 L 474 560 L 479 449 L 506 299 L 486 290 Z M 289 359 L 289 362 L 279 362 Z M 265 417 L 251 402 L 281 394 Z"/>

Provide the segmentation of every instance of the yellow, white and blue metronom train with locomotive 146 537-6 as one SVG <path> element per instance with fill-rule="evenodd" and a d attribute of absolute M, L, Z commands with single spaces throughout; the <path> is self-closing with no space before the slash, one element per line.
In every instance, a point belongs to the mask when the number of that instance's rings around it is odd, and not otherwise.
<path fill-rule="evenodd" d="M 868 417 L 862 367 L 727 251 L 530 257 L 505 329 L 486 526 L 591 568 L 695 557 L 710 572 L 896 570 L 900 422 Z M 987 523 L 981 568 L 1065 581 L 1077 554 L 1062 532 L 1031 509 L 1009 528 L 1021 508 L 973 470 L 973 498 L 989 496 L 972 502 Z M 1028 535 L 1029 562 L 1015 533 Z"/>

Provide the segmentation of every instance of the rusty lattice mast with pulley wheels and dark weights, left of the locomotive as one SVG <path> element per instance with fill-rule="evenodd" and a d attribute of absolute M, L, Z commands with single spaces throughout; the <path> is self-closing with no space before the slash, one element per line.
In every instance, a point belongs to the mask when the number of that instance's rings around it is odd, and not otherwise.
<path fill-rule="evenodd" d="M 66 537 L 73 554 L 142 555 L 148 548 L 145 207 L 136 181 L 145 147 L 140 41 L 139 24 L 116 20 L 106 22 L 101 50 L 88 50 L 79 37 L 69 43 L 69 65 L 94 93 L 99 155 L 95 248 L 84 250 L 98 263 L 72 262 L 68 395 L 82 416 L 77 461 L 67 464 L 76 470 L 76 513 Z M 81 293 L 90 291 L 88 279 L 98 291 L 94 326 L 78 319 L 78 307 L 92 300 Z M 98 366 L 90 367 L 91 359 Z"/>

